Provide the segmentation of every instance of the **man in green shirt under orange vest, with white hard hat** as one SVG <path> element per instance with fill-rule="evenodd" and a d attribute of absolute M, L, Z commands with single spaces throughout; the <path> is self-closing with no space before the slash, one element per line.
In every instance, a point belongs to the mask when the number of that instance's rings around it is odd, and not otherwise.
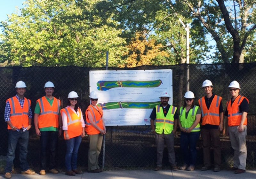
<path fill-rule="evenodd" d="M 40 136 L 40 175 L 45 175 L 47 161 L 49 161 L 49 172 L 59 173 L 55 169 L 55 156 L 57 150 L 59 130 L 60 100 L 52 96 L 54 84 L 46 82 L 44 84 L 45 96 L 36 101 L 34 123 L 36 135 Z M 47 156 L 47 153 L 49 155 Z"/>

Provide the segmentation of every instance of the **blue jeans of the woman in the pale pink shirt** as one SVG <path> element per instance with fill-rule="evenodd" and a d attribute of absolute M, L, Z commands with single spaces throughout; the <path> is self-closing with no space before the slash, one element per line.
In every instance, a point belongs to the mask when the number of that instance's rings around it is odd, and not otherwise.
<path fill-rule="evenodd" d="M 77 153 L 78 153 L 78 149 L 81 144 L 81 141 L 82 141 L 81 136 L 77 136 L 69 140 L 66 140 L 67 152 L 65 156 L 65 165 L 68 171 L 71 169 L 73 170 L 77 169 L 77 166 L 76 166 Z"/>

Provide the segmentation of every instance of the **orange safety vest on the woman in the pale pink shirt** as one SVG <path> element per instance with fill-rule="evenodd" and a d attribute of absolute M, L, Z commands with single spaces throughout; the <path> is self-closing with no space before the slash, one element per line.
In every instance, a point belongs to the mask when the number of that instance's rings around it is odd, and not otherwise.
<path fill-rule="evenodd" d="M 79 113 L 79 116 L 77 113 L 75 113 L 71 107 L 65 107 L 60 110 L 60 113 L 65 113 L 67 116 L 67 122 L 68 122 L 68 136 L 69 138 L 74 138 L 77 136 L 81 136 L 82 134 L 82 122 L 81 122 L 81 116 L 82 111 L 78 107 L 77 112 Z M 65 133 L 63 133 L 64 139 L 66 140 Z"/>

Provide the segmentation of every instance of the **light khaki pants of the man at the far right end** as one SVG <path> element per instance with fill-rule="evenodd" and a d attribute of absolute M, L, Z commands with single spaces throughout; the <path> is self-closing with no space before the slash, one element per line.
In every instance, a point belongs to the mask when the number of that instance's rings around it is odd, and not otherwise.
<path fill-rule="evenodd" d="M 247 135 L 247 126 L 244 125 L 243 132 L 238 132 L 237 127 L 238 126 L 228 127 L 228 135 L 230 138 L 231 146 L 234 149 L 234 167 L 245 170 L 247 157 L 245 137 Z"/>

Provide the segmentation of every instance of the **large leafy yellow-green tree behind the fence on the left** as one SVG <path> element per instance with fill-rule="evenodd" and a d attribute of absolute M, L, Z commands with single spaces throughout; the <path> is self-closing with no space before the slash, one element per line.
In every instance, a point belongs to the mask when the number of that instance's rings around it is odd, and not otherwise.
<path fill-rule="evenodd" d="M 9 65 L 117 65 L 125 44 L 117 22 L 97 16 L 100 0 L 27 0 L 21 15 L 1 22 L 1 57 Z M 104 20 L 104 21 L 103 21 Z"/>

